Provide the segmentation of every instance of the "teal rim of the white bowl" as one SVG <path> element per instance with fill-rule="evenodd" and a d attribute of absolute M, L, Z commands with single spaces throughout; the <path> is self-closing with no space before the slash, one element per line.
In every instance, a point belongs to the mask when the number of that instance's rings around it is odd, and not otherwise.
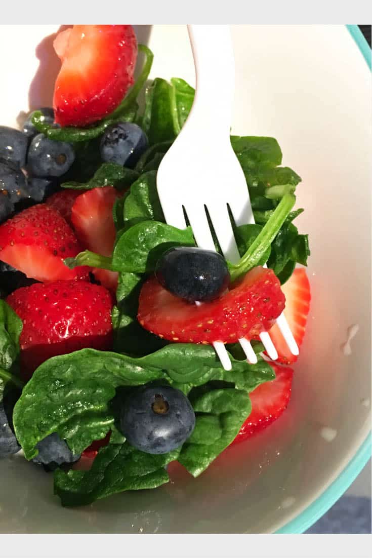
<path fill-rule="evenodd" d="M 346 27 L 371 69 L 371 49 L 363 33 L 357 25 L 346 25 Z M 357 450 L 354 458 L 351 459 L 337 479 L 315 500 L 315 502 L 310 504 L 302 513 L 292 519 L 292 521 L 289 521 L 289 523 L 286 523 L 286 525 L 276 531 L 276 534 L 298 535 L 307 531 L 307 529 L 318 521 L 318 519 L 341 498 L 342 494 L 346 492 L 371 458 L 371 453 L 372 436 L 370 433 Z"/>

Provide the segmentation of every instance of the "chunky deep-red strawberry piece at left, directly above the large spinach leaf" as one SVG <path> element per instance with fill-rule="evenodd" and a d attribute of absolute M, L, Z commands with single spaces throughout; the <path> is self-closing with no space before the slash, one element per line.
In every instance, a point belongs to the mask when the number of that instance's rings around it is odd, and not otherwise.
<path fill-rule="evenodd" d="M 18 288 L 6 299 L 20 316 L 23 376 L 58 354 L 90 347 L 112 349 L 112 296 L 87 281 L 35 283 Z"/>

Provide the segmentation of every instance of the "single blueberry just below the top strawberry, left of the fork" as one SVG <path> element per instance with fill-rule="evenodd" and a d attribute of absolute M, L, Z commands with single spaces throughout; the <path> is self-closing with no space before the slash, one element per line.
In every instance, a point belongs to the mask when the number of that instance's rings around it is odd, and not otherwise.
<path fill-rule="evenodd" d="M 147 136 L 137 124 L 119 122 L 105 129 L 100 152 L 103 161 L 132 168 L 147 146 Z"/>

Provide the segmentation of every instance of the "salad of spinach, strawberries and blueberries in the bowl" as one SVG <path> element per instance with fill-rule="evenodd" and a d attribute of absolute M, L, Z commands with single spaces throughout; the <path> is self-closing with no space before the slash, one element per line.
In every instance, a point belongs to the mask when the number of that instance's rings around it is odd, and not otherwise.
<path fill-rule="evenodd" d="M 173 461 L 197 477 L 282 414 L 296 357 L 275 320 L 284 308 L 302 343 L 310 251 L 293 224 L 301 179 L 270 137 L 231 136 L 256 222 L 233 223 L 238 264 L 167 225 L 156 174 L 194 89 L 145 87 L 153 54 L 129 25 L 75 25 L 54 46 L 53 108 L 0 126 L 0 458 L 22 451 L 82 506 L 159 487 Z"/>

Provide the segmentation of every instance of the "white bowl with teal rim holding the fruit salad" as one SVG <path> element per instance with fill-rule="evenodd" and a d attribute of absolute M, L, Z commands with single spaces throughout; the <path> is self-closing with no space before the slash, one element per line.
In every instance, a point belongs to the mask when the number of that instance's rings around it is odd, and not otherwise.
<path fill-rule="evenodd" d="M 51 104 L 57 60 L 50 38 L 37 45 L 56 30 L 0 26 L 0 50 L 12 53 L 2 60 L 1 124 Z M 136 30 L 154 51 L 152 77 L 194 85 L 185 26 Z M 231 30 L 233 132 L 276 137 L 303 180 L 296 224 L 310 233 L 312 304 L 288 410 L 199 479 L 174 470 L 171 484 L 87 508 L 61 508 L 51 476 L 23 458 L 0 460 L 1 532 L 302 532 L 370 455 L 370 71 L 345 26 Z"/>

